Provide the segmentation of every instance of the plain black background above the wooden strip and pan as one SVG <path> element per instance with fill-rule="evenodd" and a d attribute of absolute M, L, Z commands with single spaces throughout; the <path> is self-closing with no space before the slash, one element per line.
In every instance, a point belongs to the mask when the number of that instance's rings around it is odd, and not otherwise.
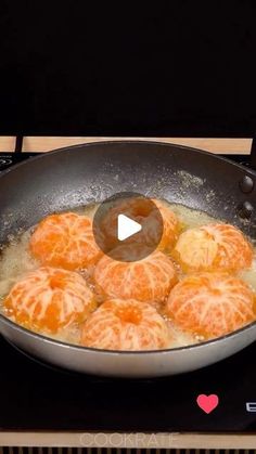
<path fill-rule="evenodd" d="M 0 0 L 0 134 L 252 137 L 256 2 Z"/>

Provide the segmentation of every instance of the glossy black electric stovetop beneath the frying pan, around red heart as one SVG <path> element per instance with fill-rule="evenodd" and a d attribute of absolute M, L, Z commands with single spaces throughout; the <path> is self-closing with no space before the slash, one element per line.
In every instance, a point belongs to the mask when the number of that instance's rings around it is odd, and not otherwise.
<path fill-rule="evenodd" d="M 0 170 L 29 156 L 0 154 Z M 232 158 L 248 165 L 246 156 Z M 2 431 L 256 431 L 256 342 L 204 369 L 153 380 L 56 369 L 1 337 L 0 360 Z M 218 406 L 204 413 L 196 404 L 199 394 L 218 395 Z"/>

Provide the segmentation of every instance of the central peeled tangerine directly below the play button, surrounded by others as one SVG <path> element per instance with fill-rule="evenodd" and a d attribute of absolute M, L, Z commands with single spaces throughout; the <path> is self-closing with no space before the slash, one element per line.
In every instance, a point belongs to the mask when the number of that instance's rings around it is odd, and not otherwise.
<path fill-rule="evenodd" d="M 94 270 L 94 281 L 110 297 L 163 302 L 177 282 L 174 263 L 161 251 L 137 261 L 140 248 L 143 246 L 119 246 L 113 251 L 115 259 L 102 257 Z M 119 261 L 126 257 L 135 261 Z"/>

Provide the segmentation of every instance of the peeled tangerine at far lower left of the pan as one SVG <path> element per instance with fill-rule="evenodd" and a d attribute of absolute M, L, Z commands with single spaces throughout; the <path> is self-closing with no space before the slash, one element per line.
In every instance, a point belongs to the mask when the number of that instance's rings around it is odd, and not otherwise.
<path fill-rule="evenodd" d="M 84 322 L 95 303 L 79 274 L 40 268 L 14 285 L 4 308 L 9 316 L 29 329 L 57 333 L 72 323 Z"/>

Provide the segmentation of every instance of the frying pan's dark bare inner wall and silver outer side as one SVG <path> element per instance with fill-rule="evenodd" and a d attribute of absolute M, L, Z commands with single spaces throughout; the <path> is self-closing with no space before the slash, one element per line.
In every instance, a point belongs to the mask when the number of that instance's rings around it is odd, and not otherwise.
<path fill-rule="evenodd" d="M 119 192 L 206 211 L 256 236 L 256 172 L 219 156 L 156 142 L 119 141 L 63 148 L 0 176 L 0 244 L 53 211 Z M 0 315 L 0 333 L 34 358 L 104 376 L 156 377 L 220 361 L 256 340 L 256 323 L 218 339 L 171 350 L 116 352 L 77 347 L 29 332 Z"/>

